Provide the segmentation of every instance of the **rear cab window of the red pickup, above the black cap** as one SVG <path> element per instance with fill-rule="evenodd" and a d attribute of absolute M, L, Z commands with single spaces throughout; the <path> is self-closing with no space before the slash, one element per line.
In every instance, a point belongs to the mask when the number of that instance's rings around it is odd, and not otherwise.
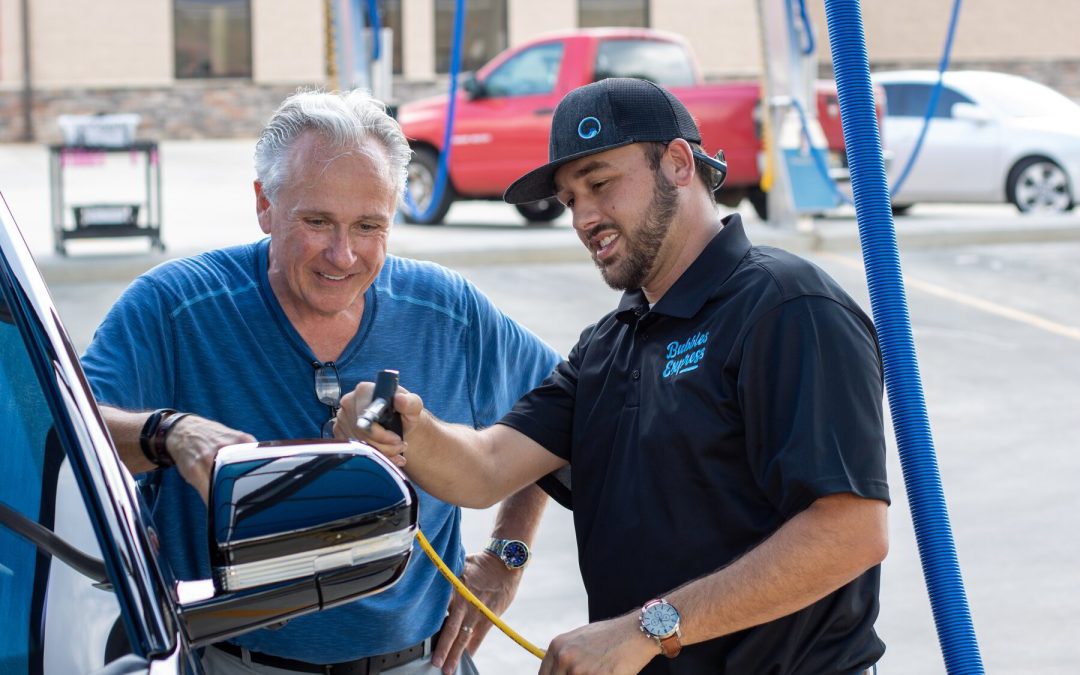
<path fill-rule="evenodd" d="M 694 83 L 690 55 L 662 40 L 605 40 L 596 50 L 595 80 L 638 78 L 664 86 Z"/>

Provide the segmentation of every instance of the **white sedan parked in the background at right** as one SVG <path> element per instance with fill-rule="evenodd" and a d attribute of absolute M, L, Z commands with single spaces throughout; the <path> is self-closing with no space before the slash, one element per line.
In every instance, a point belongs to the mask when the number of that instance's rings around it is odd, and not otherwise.
<path fill-rule="evenodd" d="M 1080 178 L 1080 106 L 1000 72 L 946 72 L 916 163 L 896 189 L 937 81 L 932 70 L 879 72 L 893 210 L 919 202 L 1011 202 L 1023 213 L 1070 211 Z"/>

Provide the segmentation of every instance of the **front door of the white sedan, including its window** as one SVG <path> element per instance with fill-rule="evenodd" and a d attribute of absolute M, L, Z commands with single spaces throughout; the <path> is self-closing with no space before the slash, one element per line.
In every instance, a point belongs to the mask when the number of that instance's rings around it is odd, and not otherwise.
<path fill-rule="evenodd" d="M 890 186 L 907 166 L 922 130 L 933 83 L 885 83 L 885 138 L 893 153 Z M 893 194 L 894 203 L 989 201 L 1000 191 L 1000 124 L 994 119 L 959 119 L 956 104 L 977 106 L 970 97 L 943 86 L 930 127 L 910 173 Z"/>

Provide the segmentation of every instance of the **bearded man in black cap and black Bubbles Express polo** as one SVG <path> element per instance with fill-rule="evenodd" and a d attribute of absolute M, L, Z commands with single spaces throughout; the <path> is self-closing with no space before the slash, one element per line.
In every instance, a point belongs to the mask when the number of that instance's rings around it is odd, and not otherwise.
<path fill-rule="evenodd" d="M 395 434 L 370 440 L 463 505 L 572 468 L 592 623 L 552 642 L 543 674 L 855 675 L 885 649 L 874 328 L 820 269 L 719 217 L 726 166 L 701 140 L 650 82 L 567 94 L 551 162 L 505 197 L 565 203 L 622 301 L 500 423 L 446 424 L 402 393 L 407 460 Z"/>

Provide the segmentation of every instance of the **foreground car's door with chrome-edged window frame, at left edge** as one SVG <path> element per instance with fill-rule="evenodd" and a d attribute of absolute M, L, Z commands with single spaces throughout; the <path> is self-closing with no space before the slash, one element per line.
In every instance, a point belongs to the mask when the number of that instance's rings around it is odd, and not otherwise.
<path fill-rule="evenodd" d="M 140 518 L 44 284 L 0 214 L 0 672 L 198 667 Z"/>

